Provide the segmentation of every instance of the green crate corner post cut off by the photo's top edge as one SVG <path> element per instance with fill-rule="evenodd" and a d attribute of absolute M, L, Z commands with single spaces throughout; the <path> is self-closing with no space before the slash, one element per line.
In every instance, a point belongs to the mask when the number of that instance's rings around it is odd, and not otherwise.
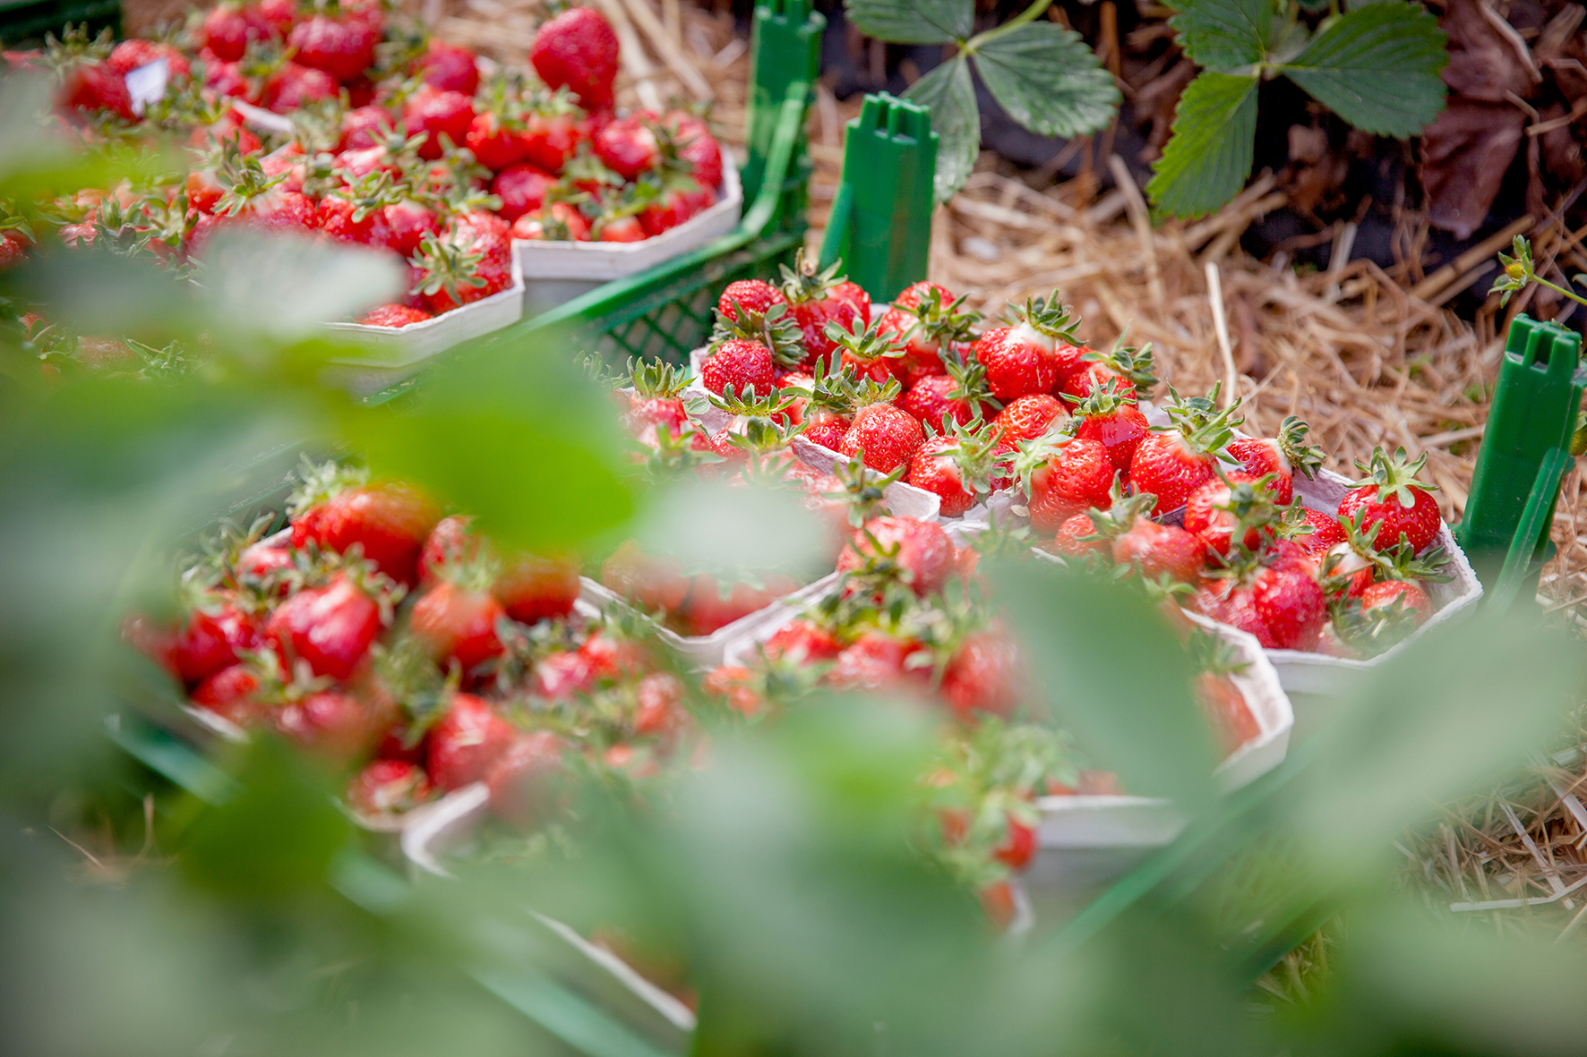
<path fill-rule="evenodd" d="M 755 5 L 749 44 L 749 160 L 740 173 L 744 202 L 754 202 L 765 179 L 778 116 L 795 84 L 816 84 L 820 73 L 820 33 L 827 17 L 809 0 L 768 0 Z"/>

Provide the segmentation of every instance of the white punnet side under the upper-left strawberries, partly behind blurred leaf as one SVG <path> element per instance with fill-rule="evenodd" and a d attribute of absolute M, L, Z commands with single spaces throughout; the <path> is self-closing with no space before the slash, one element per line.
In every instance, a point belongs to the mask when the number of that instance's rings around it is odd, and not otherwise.
<path fill-rule="evenodd" d="M 513 260 L 513 286 L 433 319 L 406 327 L 368 327 L 352 322 L 325 324 L 333 336 L 363 346 L 362 356 L 330 360 L 327 381 L 355 394 L 371 394 L 408 378 L 424 362 L 473 338 L 511 327 L 524 316 L 524 275 Z"/>

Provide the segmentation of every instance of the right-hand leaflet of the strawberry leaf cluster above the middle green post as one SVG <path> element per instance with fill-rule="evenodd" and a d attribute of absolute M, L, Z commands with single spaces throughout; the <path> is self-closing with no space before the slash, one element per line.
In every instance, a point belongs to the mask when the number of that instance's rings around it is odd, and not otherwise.
<path fill-rule="evenodd" d="M 1044 136 L 1106 129 L 1119 87 L 1081 35 L 1032 22 L 976 49 L 976 70 L 1008 116 Z"/>

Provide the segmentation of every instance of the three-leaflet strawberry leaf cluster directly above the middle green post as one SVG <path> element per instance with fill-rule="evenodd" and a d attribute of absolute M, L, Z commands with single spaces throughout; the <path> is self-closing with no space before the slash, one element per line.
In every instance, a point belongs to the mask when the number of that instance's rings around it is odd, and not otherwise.
<path fill-rule="evenodd" d="M 1009 117 L 1044 136 L 1100 132 L 1119 108 L 1119 89 L 1079 33 L 1038 22 L 1052 0 L 974 32 L 971 0 L 849 0 L 844 11 L 862 33 L 897 44 L 954 44 L 952 59 L 909 86 L 905 98 L 932 108 L 936 198 L 963 187 L 981 151 L 981 113 L 971 67 Z"/>

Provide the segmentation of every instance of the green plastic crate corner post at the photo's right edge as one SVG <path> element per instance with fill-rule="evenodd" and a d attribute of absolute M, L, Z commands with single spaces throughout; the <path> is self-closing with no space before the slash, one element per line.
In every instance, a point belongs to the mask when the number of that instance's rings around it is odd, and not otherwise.
<path fill-rule="evenodd" d="M 1517 540 L 1517 532 L 1525 509 L 1533 506 L 1533 500 L 1541 502 L 1533 490 L 1550 452 L 1568 452 L 1571 448 L 1584 389 L 1587 370 L 1581 365 L 1581 338 L 1557 324 L 1516 316 L 1504 343 L 1477 468 L 1471 476 L 1466 516 L 1455 527 L 1455 540 L 1489 590 L 1498 586 L 1504 559 L 1517 544 L 1530 548 L 1525 551 L 1530 573 L 1527 568 L 1522 571 L 1536 582 L 1558 498 L 1558 478 L 1554 478 L 1547 502 L 1535 506 L 1539 517 L 1533 519 L 1531 528 L 1536 535 Z M 1519 587 L 1517 582 L 1517 595 Z"/>

